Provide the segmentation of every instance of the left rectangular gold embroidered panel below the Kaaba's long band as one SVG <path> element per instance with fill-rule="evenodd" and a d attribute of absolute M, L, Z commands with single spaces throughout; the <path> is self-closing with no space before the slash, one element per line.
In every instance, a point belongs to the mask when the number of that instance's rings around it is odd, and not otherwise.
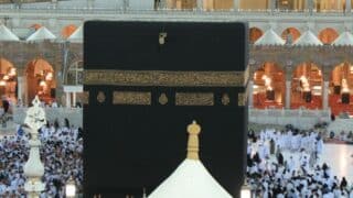
<path fill-rule="evenodd" d="M 152 103 L 151 92 L 141 91 L 114 91 L 113 105 L 150 106 Z"/>

